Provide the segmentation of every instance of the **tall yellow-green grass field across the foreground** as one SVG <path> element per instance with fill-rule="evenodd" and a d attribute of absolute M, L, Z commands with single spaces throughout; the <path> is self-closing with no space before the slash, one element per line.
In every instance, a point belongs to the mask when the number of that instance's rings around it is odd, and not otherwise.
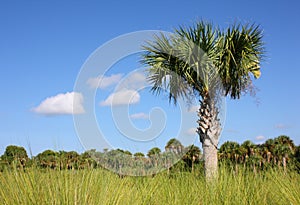
<path fill-rule="evenodd" d="M 124 177 L 102 169 L 0 173 L 0 204 L 300 204 L 300 175 L 220 170 L 208 185 L 191 173 Z"/>

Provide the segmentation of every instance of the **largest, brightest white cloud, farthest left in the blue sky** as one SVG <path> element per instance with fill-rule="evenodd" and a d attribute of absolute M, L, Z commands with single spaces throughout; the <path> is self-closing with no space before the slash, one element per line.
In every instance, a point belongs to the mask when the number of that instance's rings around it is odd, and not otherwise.
<path fill-rule="evenodd" d="M 67 92 L 46 98 L 32 111 L 43 115 L 82 114 L 85 112 L 82 104 L 81 93 Z"/>

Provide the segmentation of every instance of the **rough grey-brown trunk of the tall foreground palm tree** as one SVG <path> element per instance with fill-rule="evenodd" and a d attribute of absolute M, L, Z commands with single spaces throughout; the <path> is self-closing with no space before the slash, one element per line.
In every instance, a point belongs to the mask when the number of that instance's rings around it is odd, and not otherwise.
<path fill-rule="evenodd" d="M 209 95 L 205 95 L 200 101 L 198 112 L 197 133 L 202 143 L 204 155 L 204 170 L 206 179 L 214 179 L 218 176 L 218 141 L 221 133 L 221 125 L 218 119 L 218 109 Z"/>

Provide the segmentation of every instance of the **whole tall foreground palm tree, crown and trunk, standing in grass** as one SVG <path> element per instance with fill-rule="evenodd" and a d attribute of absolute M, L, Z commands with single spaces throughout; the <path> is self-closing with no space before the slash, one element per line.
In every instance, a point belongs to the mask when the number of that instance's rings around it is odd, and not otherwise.
<path fill-rule="evenodd" d="M 200 21 L 161 34 L 148 42 L 142 62 L 148 69 L 153 93 L 167 90 L 169 102 L 196 97 L 200 102 L 197 133 L 202 143 L 206 177 L 217 176 L 217 147 L 221 133 L 219 96 L 239 99 L 253 91 L 252 77 L 260 77 L 264 48 L 256 25 L 232 25 L 225 31 Z M 193 95 L 194 94 L 194 95 Z"/>

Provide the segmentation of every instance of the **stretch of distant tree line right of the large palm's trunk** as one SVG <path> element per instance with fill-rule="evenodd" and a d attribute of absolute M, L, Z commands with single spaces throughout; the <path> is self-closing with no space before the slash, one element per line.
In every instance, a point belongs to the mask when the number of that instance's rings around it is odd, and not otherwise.
<path fill-rule="evenodd" d="M 300 146 L 296 146 L 290 137 L 281 135 L 268 139 L 262 144 L 250 140 L 238 144 L 227 141 L 219 149 L 219 161 L 231 166 L 238 172 L 241 165 L 253 172 L 278 168 L 296 169 L 300 173 Z"/>

